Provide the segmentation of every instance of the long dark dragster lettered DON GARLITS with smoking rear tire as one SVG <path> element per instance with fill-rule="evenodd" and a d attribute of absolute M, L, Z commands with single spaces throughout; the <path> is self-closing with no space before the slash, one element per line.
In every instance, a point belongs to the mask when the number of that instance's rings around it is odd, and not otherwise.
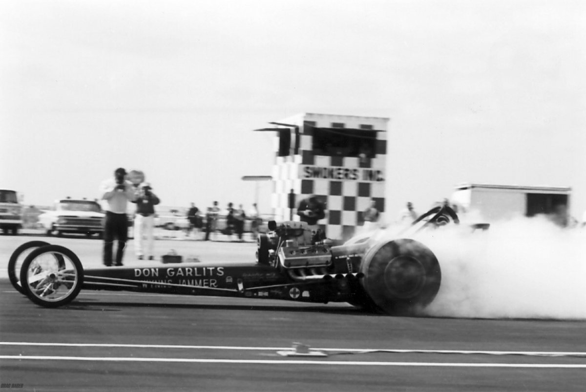
<path fill-rule="evenodd" d="M 458 222 L 454 211 L 437 207 L 411 228 L 449 222 Z M 250 263 L 84 269 L 70 249 L 32 241 L 13 252 L 8 272 L 17 290 L 45 307 L 66 305 L 84 289 L 347 302 L 413 315 L 435 298 L 441 283 L 440 263 L 421 242 L 406 237 L 375 241 L 365 234 L 336 245 L 304 222 L 271 221 L 269 231 L 258 237 L 256 258 Z"/>

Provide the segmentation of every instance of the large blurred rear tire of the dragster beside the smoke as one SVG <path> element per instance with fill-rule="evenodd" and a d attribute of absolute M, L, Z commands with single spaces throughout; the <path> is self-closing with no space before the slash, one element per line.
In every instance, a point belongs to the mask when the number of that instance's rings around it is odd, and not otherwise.
<path fill-rule="evenodd" d="M 364 255 L 362 286 L 374 304 L 391 315 L 417 315 L 440 289 L 440 263 L 412 239 L 374 245 Z"/>

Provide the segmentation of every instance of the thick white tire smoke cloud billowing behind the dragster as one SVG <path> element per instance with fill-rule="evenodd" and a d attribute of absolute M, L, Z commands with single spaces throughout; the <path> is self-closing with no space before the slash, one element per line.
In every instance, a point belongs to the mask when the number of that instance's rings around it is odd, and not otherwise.
<path fill-rule="evenodd" d="M 425 316 L 586 319 L 586 229 L 519 218 L 471 233 L 465 225 L 412 238 L 440 261 L 442 283 Z"/>

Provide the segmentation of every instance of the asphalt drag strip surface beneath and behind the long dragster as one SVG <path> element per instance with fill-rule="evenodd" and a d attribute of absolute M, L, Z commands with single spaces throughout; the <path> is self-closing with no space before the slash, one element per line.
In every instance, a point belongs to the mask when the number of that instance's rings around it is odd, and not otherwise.
<path fill-rule="evenodd" d="M 97 266 L 101 241 L 42 239 Z M 129 244 L 132 246 L 132 244 Z M 255 245 L 156 241 L 205 261 Z M 125 263 L 142 263 L 127 249 Z M 152 263 L 158 263 L 154 261 Z M 82 291 L 45 309 L 0 275 L 0 383 L 30 391 L 584 391 L 586 322 L 389 317 L 345 304 Z M 292 349 L 309 346 L 309 354 Z"/>

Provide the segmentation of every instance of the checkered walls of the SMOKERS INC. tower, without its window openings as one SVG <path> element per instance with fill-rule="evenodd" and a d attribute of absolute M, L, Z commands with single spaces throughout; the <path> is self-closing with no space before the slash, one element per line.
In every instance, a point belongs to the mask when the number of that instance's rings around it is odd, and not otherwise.
<path fill-rule="evenodd" d="M 331 127 L 343 123 L 347 129 L 370 125 L 376 133 L 376 151 L 373 158 L 323 156 L 312 150 L 312 127 L 303 126 L 313 121 L 315 127 Z M 278 156 L 279 140 L 275 137 L 275 164 L 272 169 L 272 208 L 275 218 L 298 221 L 297 208 L 289 209 L 289 192 L 295 194 L 295 207 L 302 198 L 315 194 L 325 202 L 326 217 L 319 224 L 328 238 L 346 239 L 363 224 L 362 212 L 376 200 L 384 212 L 386 170 L 386 126 L 388 119 L 380 117 L 331 116 L 304 113 L 283 120 L 299 126 L 297 154 Z M 340 129 L 343 132 L 344 129 Z M 292 140 L 291 144 L 295 141 Z M 309 175 L 308 175 L 309 173 Z"/>

